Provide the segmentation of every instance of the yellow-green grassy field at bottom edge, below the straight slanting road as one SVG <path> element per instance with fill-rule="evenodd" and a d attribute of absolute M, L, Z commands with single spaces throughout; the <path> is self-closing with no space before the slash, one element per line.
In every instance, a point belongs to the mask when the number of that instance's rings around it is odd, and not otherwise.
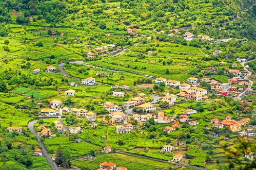
<path fill-rule="evenodd" d="M 97 169 L 102 162 L 114 162 L 117 167 L 123 166 L 127 170 L 162 170 L 173 167 L 171 164 L 161 163 L 139 157 L 133 157 L 124 154 L 110 153 L 97 155 L 91 161 L 74 160 L 72 164 L 77 167 L 86 167 L 88 169 Z"/>

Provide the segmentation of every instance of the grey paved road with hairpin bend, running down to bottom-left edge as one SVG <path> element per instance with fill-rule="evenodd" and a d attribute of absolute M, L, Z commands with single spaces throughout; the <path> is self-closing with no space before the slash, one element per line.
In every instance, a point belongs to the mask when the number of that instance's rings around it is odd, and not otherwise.
<path fill-rule="evenodd" d="M 35 124 L 36 122 L 38 122 L 38 120 L 30 121 L 30 122 L 28 123 L 28 128 L 29 128 L 29 130 L 31 131 L 31 133 L 32 133 L 34 136 L 37 137 L 38 143 L 39 143 L 40 147 L 42 148 L 42 149 L 41 149 L 41 150 L 42 150 L 42 153 L 43 153 L 43 155 L 45 156 L 45 158 L 47 159 L 48 163 L 50 164 L 52 170 L 58 170 L 57 166 L 55 165 L 55 163 L 54 163 L 53 160 L 51 159 L 50 155 L 47 153 L 46 149 L 44 148 L 43 143 L 42 143 L 42 141 L 40 140 L 38 134 L 36 133 L 36 130 L 35 130 L 35 128 L 34 128 L 34 124 Z"/>

